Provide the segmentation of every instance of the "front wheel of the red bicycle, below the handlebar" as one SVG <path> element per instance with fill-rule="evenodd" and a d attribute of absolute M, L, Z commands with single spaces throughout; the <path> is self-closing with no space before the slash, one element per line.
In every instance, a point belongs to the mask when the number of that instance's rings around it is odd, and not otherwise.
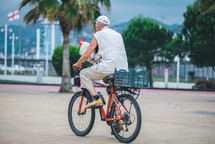
<path fill-rule="evenodd" d="M 68 108 L 68 120 L 72 131 L 77 136 L 87 135 L 94 124 L 95 109 L 85 109 L 87 97 L 81 96 L 81 91 L 73 95 Z"/>

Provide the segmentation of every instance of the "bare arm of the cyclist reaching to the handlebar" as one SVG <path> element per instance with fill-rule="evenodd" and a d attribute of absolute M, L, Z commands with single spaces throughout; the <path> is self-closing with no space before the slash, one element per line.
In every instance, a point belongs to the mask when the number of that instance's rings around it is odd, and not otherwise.
<path fill-rule="evenodd" d="M 87 51 L 79 58 L 79 60 L 75 64 L 73 64 L 73 68 L 74 69 L 78 68 L 80 70 L 82 67 L 81 64 L 88 60 L 88 58 L 91 56 L 97 45 L 98 45 L 97 40 L 95 37 L 93 37 Z"/>

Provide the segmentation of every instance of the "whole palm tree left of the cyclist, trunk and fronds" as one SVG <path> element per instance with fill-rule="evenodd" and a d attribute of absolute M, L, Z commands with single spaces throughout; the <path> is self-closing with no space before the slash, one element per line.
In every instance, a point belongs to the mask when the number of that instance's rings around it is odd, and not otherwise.
<path fill-rule="evenodd" d="M 88 23 L 93 25 L 100 15 L 100 7 L 105 6 L 110 11 L 110 0 L 22 0 L 19 9 L 29 5 L 32 9 L 24 16 L 26 25 L 36 23 L 40 16 L 50 22 L 59 21 L 63 34 L 63 71 L 59 92 L 72 92 L 70 61 L 69 61 L 69 32 L 80 32 Z"/>

